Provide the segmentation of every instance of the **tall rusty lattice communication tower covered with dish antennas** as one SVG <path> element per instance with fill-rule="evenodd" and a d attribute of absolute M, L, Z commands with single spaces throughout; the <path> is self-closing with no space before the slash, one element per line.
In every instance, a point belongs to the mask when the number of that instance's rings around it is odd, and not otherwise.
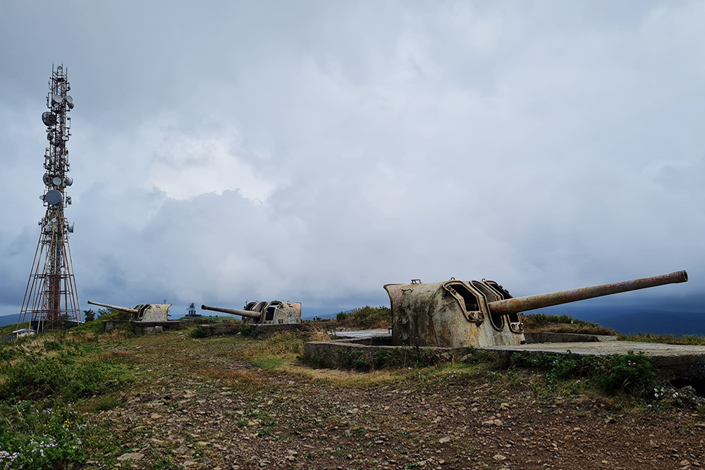
<path fill-rule="evenodd" d="M 66 149 L 66 142 L 71 137 L 71 118 L 66 114 L 73 109 L 73 98 L 67 94 L 70 89 L 63 66 L 51 66 L 47 94 L 49 111 L 42 114 L 49 140 L 49 147 L 44 152 L 46 189 L 39 196 L 47 213 L 39 221 L 42 232 L 18 321 L 19 326 L 30 316 L 30 329 L 37 333 L 81 322 L 71 249 L 68 247 L 68 234 L 73 233 L 73 223 L 63 215 L 66 206 L 71 205 L 66 187 L 73 185 L 73 178 L 66 174 L 71 168 Z"/>

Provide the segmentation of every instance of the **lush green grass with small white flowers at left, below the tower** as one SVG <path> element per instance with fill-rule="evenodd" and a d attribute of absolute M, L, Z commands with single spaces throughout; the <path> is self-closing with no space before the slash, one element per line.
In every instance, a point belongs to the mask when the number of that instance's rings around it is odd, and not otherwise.
<path fill-rule="evenodd" d="M 78 412 L 91 400 L 91 411 L 118 406 L 111 392 L 133 380 L 130 360 L 104 345 L 90 323 L 0 344 L 1 468 L 66 469 L 118 452 L 112 431 Z"/>

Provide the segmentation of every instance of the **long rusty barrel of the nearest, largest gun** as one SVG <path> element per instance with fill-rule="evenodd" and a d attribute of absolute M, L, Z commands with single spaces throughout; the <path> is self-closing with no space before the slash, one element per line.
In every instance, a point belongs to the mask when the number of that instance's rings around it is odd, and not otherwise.
<path fill-rule="evenodd" d="M 592 287 L 582 287 L 580 289 L 560 290 L 548 294 L 527 295 L 514 299 L 498 300 L 489 302 L 487 307 L 493 314 L 516 314 L 520 311 L 543 309 L 553 305 L 568 304 L 578 300 L 602 297 L 603 295 L 629 292 L 630 290 L 646 289 L 657 285 L 685 283 L 688 280 L 688 273 L 676 271 L 675 273 L 662 274 L 661 276 L 651 276 L 650 278 L 639 278 L 625 280 L 620 283 L 594 285 Z"/>

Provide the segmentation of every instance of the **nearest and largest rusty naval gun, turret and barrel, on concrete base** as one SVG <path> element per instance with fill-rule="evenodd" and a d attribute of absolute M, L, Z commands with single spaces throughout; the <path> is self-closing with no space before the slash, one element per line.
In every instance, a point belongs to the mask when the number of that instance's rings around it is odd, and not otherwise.
<path fill-rule="evenodd" d="M 685 271 L 620 283 L 512 297 L 494 280 L 387 284 L 392 308 L 392 345 L 487 347 L 525 343 L 521 312 L 603 295 L 685 283 Z"/>

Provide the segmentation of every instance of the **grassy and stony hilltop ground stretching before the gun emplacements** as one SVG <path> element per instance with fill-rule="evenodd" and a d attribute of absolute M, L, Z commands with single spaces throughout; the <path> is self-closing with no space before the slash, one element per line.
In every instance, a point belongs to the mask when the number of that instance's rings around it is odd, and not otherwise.
<path fill-rule="evenodd" d="M 687 390 L 658 388 L 658 399 L 624 386 L 606 394 L 590 378 L 481 354 L 367 373 L 312 369 L 298 354 L 323 334 L 197 339 L 181 330 L 135 338 L 98 334 L 89 324 L 3 345 L 0 445 L 17 455 L 0 452 L 0 464 L 705 467 L 705 409 Z"/>

